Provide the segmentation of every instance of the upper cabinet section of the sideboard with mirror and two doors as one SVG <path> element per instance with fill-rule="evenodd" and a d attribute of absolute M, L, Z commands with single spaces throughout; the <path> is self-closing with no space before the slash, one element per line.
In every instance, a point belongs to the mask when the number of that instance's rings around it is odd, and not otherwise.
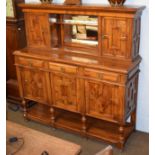
<path fill-rule="evenodd" d="M 140 16 L 144 7 L 20 6 L 25 12 L 29 47 L 130 62 L 139 55 Z"/>

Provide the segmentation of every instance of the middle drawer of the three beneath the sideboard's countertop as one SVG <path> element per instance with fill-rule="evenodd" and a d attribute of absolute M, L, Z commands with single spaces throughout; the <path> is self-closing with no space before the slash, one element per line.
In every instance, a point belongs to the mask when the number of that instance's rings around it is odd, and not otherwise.
<path fill-rule="evenodd" d="M 59 63 L 49 63 L 49 69 L 53 71 L 58 71 L 62 73 L 69 73 L 69 74 L 76 74 L 77 73 L 77 67 L 65 65 L 65 64 L 59 64 Z"/>

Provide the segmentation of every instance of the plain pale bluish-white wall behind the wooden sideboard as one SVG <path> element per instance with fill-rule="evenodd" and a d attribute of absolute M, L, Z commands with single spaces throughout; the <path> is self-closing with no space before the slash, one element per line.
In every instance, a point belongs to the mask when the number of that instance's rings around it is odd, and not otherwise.
<path fill-rule="evenodd" d="M 25 0 L 26 2 L 39 2 L 39 0 Z M 64 0 L 54 0 L 61 3 Z M 109 4 L 108 0 L 82 0 L 83 3 Z M 141 18 L 141 40 L 140 55 L 142 62 L 140 64 L 139 92 L 137 107 L 137 125 L 136 129 L 149 132 L 149 0 L 126 0 L 125 5 L 145 5 Z"/>

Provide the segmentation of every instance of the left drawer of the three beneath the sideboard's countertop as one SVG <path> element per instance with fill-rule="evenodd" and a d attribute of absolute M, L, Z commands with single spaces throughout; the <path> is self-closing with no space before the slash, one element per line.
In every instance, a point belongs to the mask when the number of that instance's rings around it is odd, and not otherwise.
<path fill-rule="evenodd" d="M 17 63 L 28 67 L 37 67 L 37 68 L 44 67 L 44 61 L 24 57 L 18 57 Z"/>

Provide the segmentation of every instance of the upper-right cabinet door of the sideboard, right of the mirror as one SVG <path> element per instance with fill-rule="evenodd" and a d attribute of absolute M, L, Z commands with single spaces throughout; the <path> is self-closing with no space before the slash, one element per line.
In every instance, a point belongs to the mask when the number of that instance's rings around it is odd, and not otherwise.
<path fill-rule="evenodd" d="M 131 55 L 131 21 L 125 18 L 102 19 L 102 54 L 129 58 Z"/>

